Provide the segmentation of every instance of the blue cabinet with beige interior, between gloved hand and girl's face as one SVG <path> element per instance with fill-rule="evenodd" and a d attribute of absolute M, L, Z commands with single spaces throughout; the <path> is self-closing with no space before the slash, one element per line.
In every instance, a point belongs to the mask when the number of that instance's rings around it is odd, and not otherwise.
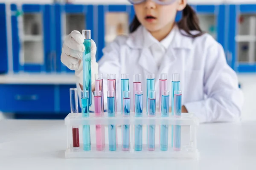
<path fill-rule="evenodd" d="M 129 33 L 129 24 L 134 18 L 134 8 L 131 5 L 99 5 L 98 6 L 98 35 L 96 60 L 103 53 L 102 49 L 120 34 Z"/>

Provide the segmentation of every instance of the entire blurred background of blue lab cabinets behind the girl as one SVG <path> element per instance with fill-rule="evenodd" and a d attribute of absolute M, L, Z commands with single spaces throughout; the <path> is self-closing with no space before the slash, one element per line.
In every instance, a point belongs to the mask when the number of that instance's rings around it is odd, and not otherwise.
<path fill-rule="evenodd" d="M 256 1 L 188 0 L 201 28 L 224 48 L 244 92 L 242 119 L 256 119 Z M 128 0 L 0 0 L 0 119 L 63 119 L 70 113 L 74 72 L 61 63 L 73 30 L 92 30 L 102 48 L 128 34 Z M 181 13 L 176 20 L 180 20 Z M 81 111 L 81 110 L 80 110 Z"/>

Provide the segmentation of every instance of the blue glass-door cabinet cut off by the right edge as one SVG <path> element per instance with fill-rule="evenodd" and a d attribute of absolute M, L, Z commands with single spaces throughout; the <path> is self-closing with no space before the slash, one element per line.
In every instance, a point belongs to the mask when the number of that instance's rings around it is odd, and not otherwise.
<path fill-rule="evenodd" d="M 229 56 L 236 72 L 256 72 L 256 4 L 229 6 Z"/>

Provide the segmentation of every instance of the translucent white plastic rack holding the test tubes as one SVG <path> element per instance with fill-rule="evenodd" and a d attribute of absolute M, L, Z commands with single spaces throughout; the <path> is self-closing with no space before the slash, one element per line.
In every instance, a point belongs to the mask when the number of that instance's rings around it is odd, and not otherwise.
<path fill-rule="evenodd" d="M 199 119 L 193 113 L 182 113 L 181 117 L 172 116 L 161 117 L 160 113 L 155 117 L 148 117 L 146 113 L 143 113 L 143 117 L 135 117 L 134 113 L 131 113 L 129 117 L 123 117 L 122 113 L 117 113 L 115 117 L 108 117 L 108 113 L 104 113 L 102 117 L 96 117 L 94 113 L 90 113 L 90 117 L 82 117 L 82 113 L 69 113 L 65 118 L 65 125 L 67 126 L 67 150 L 65 151 L 65 157 L 68 158 L 185 158 L 185 159 L 198 159 L 199 152 L 197 149 L 197 126 L 199 125 Z M 96 150 L 95 134 L 90 133 L 91 150 L 83 150 L 82 142 L 82 126 L 90 125 L 90 129 L 95 129 L 96 125 L 116 125 L 118 127 L 118 147 L 116 151 L 108 150 L 108 130 L 105 129 L 105 150 Z M 122 136 L 120 125 L 130 125 L 130 149 L 129 151 L 122 150 Z M 143 125 L 143 150 L 134 150 L 134 125 Z M 159 138 L 156 135 L 156 148 L 154 151 L 148 151 L 146 147 L 146 125 L 180 125 L 182 130 L 181 136 L 181 149 L 174 150 L 171 146 L 171 140 L 169 139 L 168 150 L 160 150 Z M 73 147 L 72 142 L 72 126 L 79 126 L 79 138 L 80 147 Z M 169 130 L 171 133 L 172 130 Z M 156 130 L 159 136 L 159 130 Z M 170 138 L 171 135 L 169 135 Z M 93 142 L 94 139 L 94 142 Z"/>

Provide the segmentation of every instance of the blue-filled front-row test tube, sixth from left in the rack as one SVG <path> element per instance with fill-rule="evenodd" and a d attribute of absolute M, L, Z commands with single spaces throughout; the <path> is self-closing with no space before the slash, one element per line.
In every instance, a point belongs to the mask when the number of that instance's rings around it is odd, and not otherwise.
<path fill-rule="evenodd" d="M 143 116 L 143 92 L 135 91 L 135 117 Z M 142 125 L 134 125 L 134 150 L 142 150 Z"/>

